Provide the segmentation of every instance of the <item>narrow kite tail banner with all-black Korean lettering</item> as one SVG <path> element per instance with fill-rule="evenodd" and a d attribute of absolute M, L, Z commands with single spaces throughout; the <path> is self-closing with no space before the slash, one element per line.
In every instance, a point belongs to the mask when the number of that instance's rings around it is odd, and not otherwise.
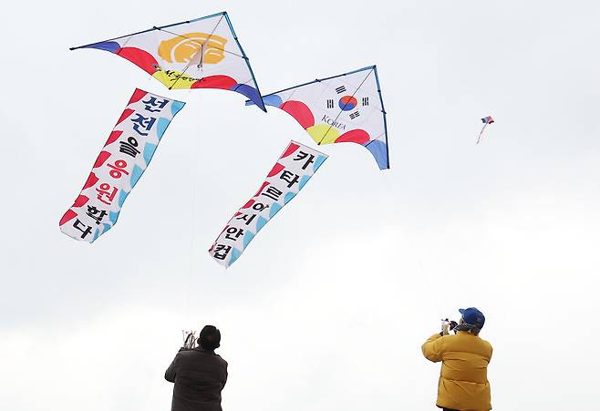
<path fill-rule="evenodd" d="M 326 154 L 291 141 L 253 198 L 227 222 L 209 253 L 229 267 L 277 211 L 302 190 L 327 159 Z"/>

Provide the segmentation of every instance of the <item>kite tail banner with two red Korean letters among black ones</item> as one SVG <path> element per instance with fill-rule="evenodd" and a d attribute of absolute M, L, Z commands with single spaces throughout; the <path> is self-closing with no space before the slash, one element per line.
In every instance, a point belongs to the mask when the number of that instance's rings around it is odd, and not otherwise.
<path fill-rule="evenodd" d="M 117 223 L 123 202 L 184 105 L 136 88 L 78 198 L 60 219 L 60 231 L 75 240 L 93 242 Z"/>

